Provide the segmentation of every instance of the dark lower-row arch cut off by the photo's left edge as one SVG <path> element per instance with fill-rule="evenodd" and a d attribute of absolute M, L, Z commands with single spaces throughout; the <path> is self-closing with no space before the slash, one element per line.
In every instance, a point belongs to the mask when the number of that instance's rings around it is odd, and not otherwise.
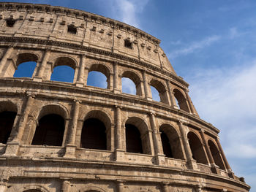
<path fill-rule="evenodd" d="M 0 101 L 0 143 L 7 144 L 17 113 L 18 107 L 12 101 Z"/>

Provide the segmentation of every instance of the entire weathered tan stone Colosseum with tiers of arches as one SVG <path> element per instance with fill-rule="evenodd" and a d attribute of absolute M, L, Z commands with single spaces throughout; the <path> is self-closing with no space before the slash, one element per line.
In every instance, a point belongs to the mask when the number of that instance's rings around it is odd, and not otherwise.
<path fill-rule="evenodd" d="M 249 191 L 159 39 L 78 9 L 0 9 L 0 192 Z M 15 77 L 28 61 L 33 74 Z M 52 80 L 58 66 L 72 82 Z M 90 72 L 107 88 L 88 85 Z"/>

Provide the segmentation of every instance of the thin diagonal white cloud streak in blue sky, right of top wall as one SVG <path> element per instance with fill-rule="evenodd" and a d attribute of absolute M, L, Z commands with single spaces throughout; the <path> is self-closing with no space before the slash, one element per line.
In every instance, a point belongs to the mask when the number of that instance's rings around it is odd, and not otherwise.
<path fill-rule="evenodd" d="M 200 40 L 199 42 L 192 42 L 191 45 L 187 45 L 187 47 L 181 48 L 179 50 L 175 50 L 172 53 L 169 54 L 170 58 L 176 58 L 181 55 L 187 55 L 189 53 L 194 53 L 195 50 L 203 49 L 204 47 L 207 47 L 211 45 L 214 42 L 217 42 L 220 39 L 219 36 L 213 35 L 211 37 L 206 37 L 203 40 Z"/>

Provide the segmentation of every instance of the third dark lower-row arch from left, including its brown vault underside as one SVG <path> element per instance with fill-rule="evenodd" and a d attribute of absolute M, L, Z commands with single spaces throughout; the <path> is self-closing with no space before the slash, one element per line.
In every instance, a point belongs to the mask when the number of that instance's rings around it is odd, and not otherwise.
<path fill-rule="evenodd" d="M 111 120 L 108 113 L 92 110 L 86 114 L 80 136 L 80 146 L 91 146 L 94 149 L 111 150 Z M 86 126 L 89 129 L 86 129 Z M 92 129 L 94 128 L 94 129 Z M 86 135 L 87 134 L 87 135 Z M 93 137 L 93 138 L 90 138 Z M 90 144 L 93 139 L 93 144 Z M 95 139 L 98 142 L 95 142 Z"/>

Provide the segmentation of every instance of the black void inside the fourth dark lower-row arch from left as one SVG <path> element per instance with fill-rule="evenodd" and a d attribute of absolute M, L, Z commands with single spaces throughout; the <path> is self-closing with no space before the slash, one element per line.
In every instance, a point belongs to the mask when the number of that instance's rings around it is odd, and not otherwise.
<path fill-rule="evenodd" d="M 140 131 L 136 126 L 125 124 L 125 137 L 127 143 L 127 152 L 143 153 Z"/>

